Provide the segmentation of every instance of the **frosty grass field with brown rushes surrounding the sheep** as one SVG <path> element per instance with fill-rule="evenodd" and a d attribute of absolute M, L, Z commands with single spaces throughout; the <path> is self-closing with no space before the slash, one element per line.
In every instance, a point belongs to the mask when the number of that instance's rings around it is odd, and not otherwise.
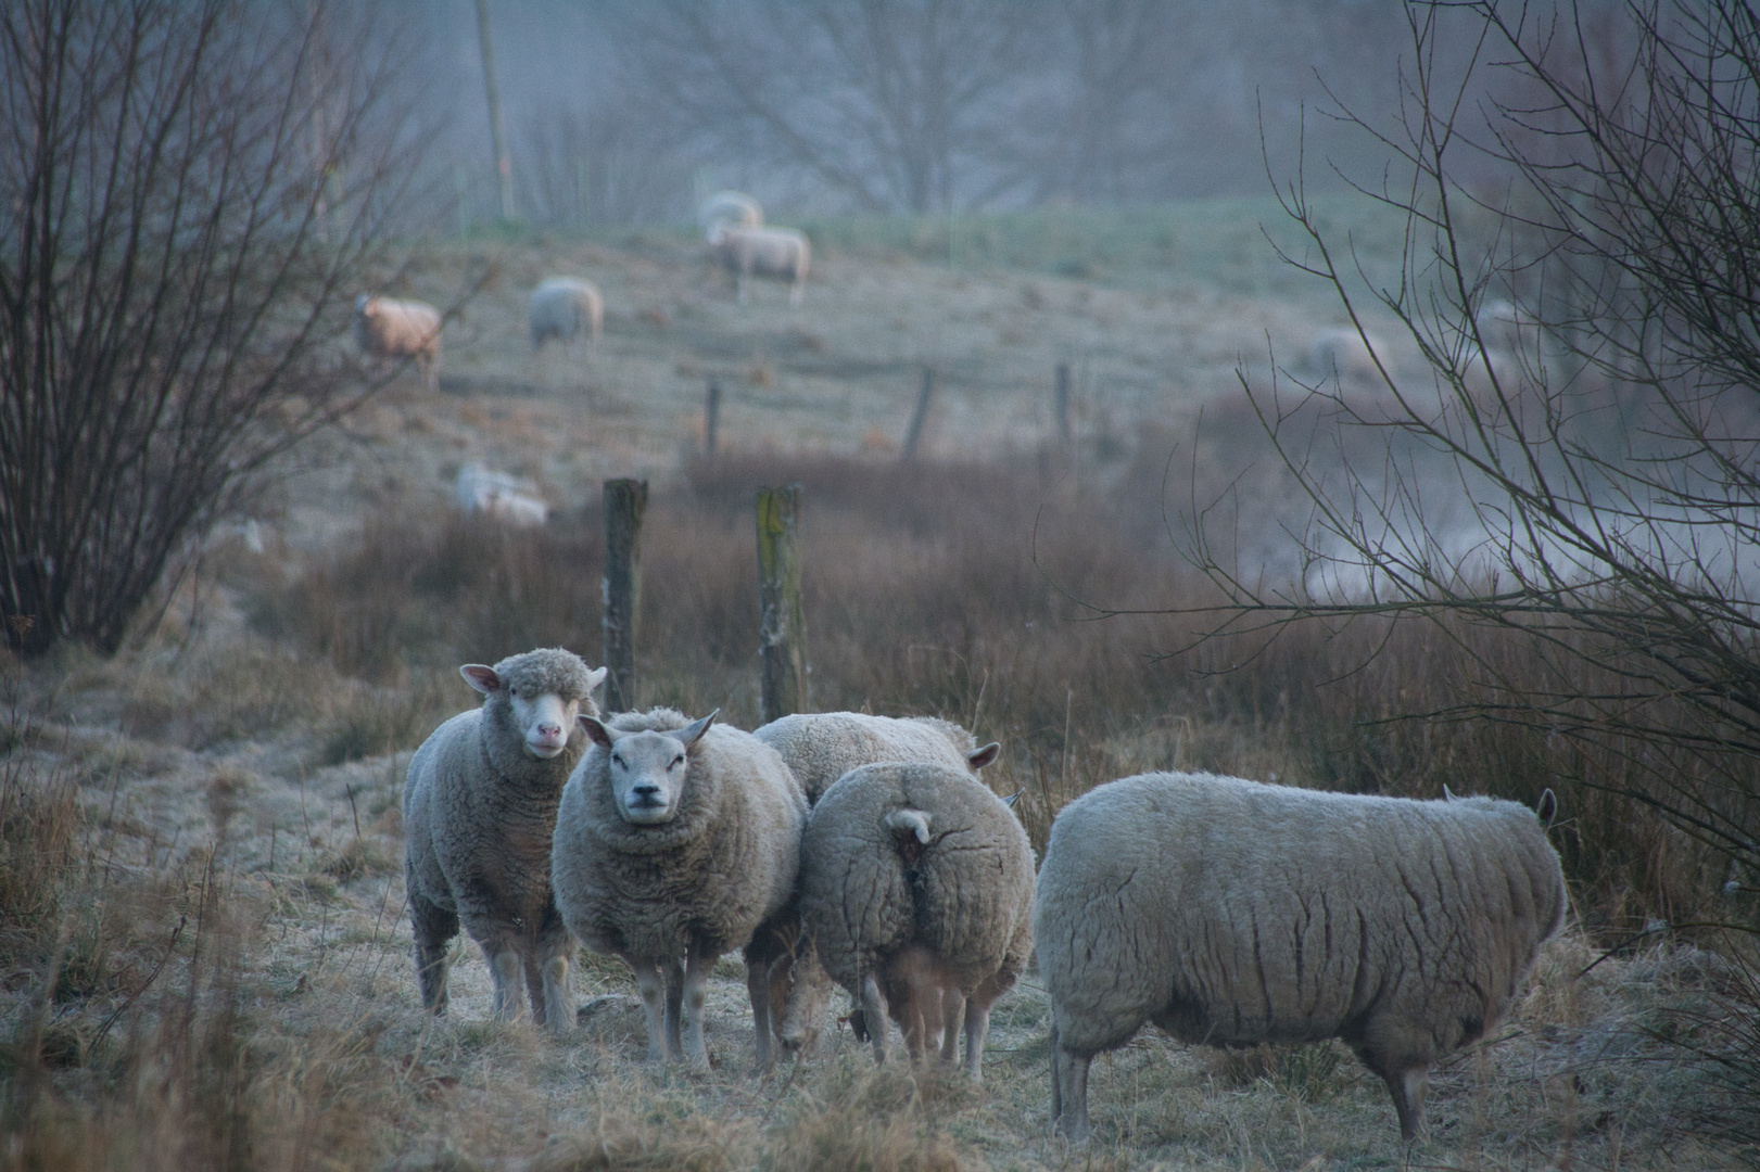
<path fill-rule="evenodd" d="M 801 308 L 774 287 L 736 304 L 683 234 L 410 246 L 400 292 L 444 301 L 488 276 L 438 392 L 400 380 L 283 470 L 252 540 L 215 535 L 127 653 L 0 665 L 0 1168 L 1749 1167 L 1751 963 L 1712 938 L 1630 940 L 1721 912 L 1727 876 L 1586 783 L 1617 760 L 1389 722 L 1463 678 L 1433 628 L 1202 642 L 1190 618 L 1093 621 L 1091 604 L 1209 598 L 1174 549 L 1193 494 L 1234 484 L 1264 519 L 1243 549 L 1278 542 L 1288 482 L 1236 364 L 1299 354 L 1332 311 L 1241 259 L 1262 215 L 957 222 L 952 264 L 945 222 L 817 223 Z M 524 292 L 560 271 L 605 289 L 597 354 L 530 354 Z M 1060 361 L 1077 373 L 1068 447 L 1049 415 Z M 936 410 L 906 463 L 924 364 Z M 553 521 L 458 516 L 468 461 L 528 477 Z M 583 956 L 568 1044 L 488 1021 L 463 938 L 452 1010 L 429 1019 L 403 769 L 473 700 L 459 663 L 549 644 L 597 662 L 614 475 L 653 486 L 644 704 L 755 725 L 752 500 L 799 480 L 813 707 L 1000 739 L 984 776 L 1021 792 L 1035 848 L 1065 801 L 1144 769 L 1420 797 L 1552 787 L 1572 927 L 1514 1019 L 1436 1072 L 1410 1147 L 1343 1047 L 1151 1031 L 1095 1063 L 1098 1135 L 1072 1153 L 1047 1130 L 1031 971 L 996 1008 L 982 1088 L 876 1070 L 843 1026 L 760 1075 L 734 957 L 711 980 L 708 1073 L 641 1061 L 634 980 L 604 957 Z"/>

